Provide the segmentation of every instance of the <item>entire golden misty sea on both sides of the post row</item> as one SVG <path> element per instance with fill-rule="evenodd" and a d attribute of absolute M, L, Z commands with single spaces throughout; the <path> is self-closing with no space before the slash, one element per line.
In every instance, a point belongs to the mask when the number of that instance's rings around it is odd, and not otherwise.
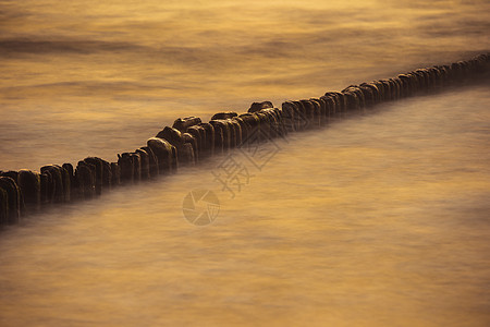
<path fill-rule="evenodd" d="M 488 1 L 0 1 L 0 169 L 115 160 L 177 117 L 466 59 L 488 22 Z M 27 217 L 0 234 L 0 325 L 488 326 L 489 90 Z M 183 216 L 195 189 L 220 199 L 206 227 Z"/>

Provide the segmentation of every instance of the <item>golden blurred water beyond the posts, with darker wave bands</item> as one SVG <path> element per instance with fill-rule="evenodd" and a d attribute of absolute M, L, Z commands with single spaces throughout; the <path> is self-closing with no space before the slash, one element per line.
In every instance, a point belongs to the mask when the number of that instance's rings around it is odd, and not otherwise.
<path fill-rule="evenodd" d="M 0 1 L 2 169 L 488 51 L 488 1 Z"/>

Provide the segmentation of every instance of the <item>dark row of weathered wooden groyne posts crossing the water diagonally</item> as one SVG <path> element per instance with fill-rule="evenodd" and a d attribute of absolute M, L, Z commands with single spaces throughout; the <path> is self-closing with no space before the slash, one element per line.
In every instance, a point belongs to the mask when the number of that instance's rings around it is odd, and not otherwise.
<path fill-rule="evenodd" d="M 0 171 L 0 227 L 52 205 L 90 199 L 112 187 L 160 174 L 175 173 L 215 154 L 252 142 L 267 142 L 287 133 L 328 124 L 373 105 L 440 90 L 471 82 L 489 71 L 490 53 L 449 65 L 418 69 L 389 80 L 351 85 L 319 98 L 254 102 L 246 113 L 218 112 L 209 122 L 197 117 L 177 119 L 146 145 L 118 155 L 117 162 L 88 157 L 76 164 L 49 165 L 40 171 Z"/>

